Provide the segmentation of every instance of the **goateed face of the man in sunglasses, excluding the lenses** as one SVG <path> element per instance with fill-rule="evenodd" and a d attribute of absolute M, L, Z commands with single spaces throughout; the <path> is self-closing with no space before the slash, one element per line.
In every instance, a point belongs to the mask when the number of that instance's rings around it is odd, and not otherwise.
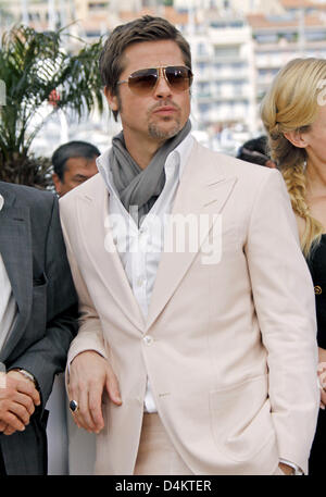
<path fill-rule="evenodd" d="M 166 65 L 185 65 L 183 53 L 175 41 L 145 41 L 130 45 L 124 51 L 125 69 L 120 80 L 128 79 L 135 71 Z M 135 95 L 127 83 L 118 86 L 118 96 L 105 88 L 112 110 L 117 110 L 127 144 L 164 142 L 186 124 L 190 113 L 190 91 L 177 92 L 164 77 L 146 96 Z"/>

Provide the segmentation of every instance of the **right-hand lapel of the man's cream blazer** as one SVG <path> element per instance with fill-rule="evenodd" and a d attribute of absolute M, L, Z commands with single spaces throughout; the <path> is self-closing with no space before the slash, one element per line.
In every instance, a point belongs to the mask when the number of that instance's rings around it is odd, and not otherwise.
<path fill-rule="evenodd" d="M 223 167 L 216 164 L 216 156 L 213 157 L 214 162 L 212 162 L 211 153 L 208 149 L 196 145 L 185 166 L 168 221 L 170 226 L 165 231 L 164 251 L 155 278 L 147 330 L 172 298 L 216 223 L 237 182 L 236 177 L 224 176 Z M 208 157 L 204 157 L 205 154 Z M 200 164 L 205 164 L 204 174 Z M 191 245 L 189 245 L 188 227 L 184 229 L 188 224 L 187 221 L 195 234 L 195 240 L 190 238 Z M 176 229 L 172 229 L 172 224 Z M 186 241 L 185 245 L 184 241 Z M 185 250 L 183 250 L 184 247 Z"/>

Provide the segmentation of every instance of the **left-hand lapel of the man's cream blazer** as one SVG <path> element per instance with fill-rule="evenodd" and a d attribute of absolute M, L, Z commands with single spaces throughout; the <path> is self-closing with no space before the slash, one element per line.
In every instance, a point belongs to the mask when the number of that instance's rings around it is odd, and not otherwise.
<path fill-rule="evenodd" d="M 109 192 L 100 175 L 96 195 L 80 196 L 78 202 L 80 203 L 77 206 L 77 218 L 84 250 L 88 253 L 97 276 L 103 281 L 128 320 L 143 332 L 145 321 L 141 310 L 112 238 L 109 223 Z"/>

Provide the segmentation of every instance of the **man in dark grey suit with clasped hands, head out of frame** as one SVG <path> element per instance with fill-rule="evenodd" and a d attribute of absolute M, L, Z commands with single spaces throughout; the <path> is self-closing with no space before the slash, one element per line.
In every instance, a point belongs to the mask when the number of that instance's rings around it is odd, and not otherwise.
<path fill-rule="evenodd" d="M 46 474 L 54 375 L 77 331 L 58 200 L 0 182 L 0 474 Z"/>

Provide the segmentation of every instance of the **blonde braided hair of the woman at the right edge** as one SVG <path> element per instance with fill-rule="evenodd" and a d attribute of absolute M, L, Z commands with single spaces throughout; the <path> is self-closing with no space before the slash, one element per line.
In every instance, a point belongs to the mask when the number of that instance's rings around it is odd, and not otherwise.
<path fill-rule="evenodd" d="M 283 173 L 294 213 L 305 221 L 301 248 L 306 258 L 319 243 L 324 227 L 311 215 L 305 199 L 305 149 L 293 146 L 285 133 L 310 129 L 324 104 L 321 100 L 323 80 L 326 84 L 326 60 L 294 59 L 276 75 L 261 107 L 272 159 Z"/>

